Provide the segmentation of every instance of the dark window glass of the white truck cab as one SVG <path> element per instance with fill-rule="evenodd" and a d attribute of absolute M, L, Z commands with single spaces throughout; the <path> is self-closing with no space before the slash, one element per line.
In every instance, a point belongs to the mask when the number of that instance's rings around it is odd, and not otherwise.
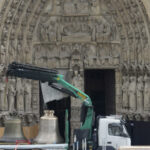
<path fill-rule="evenodd" d="M 129 137 L 125 126 L 119 123 L 110 123 L 108 125 L 108 134 L 112 136 Z"/>

